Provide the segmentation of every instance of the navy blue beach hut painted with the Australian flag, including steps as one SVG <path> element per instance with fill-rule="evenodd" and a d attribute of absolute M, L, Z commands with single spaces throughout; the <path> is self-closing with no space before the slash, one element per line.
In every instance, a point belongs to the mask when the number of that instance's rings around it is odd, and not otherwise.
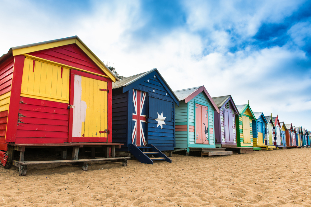
<path fill-rule="evenodd" d="M 179 100 L 154 68 L 112 85 L 112 140 L 140 162 L 172 162 L 161 151 L 175 147 L 174 106 Z"/>

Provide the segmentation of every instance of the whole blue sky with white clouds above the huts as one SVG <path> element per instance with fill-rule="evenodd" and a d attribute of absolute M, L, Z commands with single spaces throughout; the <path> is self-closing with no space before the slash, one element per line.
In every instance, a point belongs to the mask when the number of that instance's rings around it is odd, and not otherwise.
<path fill-rule="evenodd" d="M 77 35 L 124 76 L 157 68 L 311 130 L 311 1 L 0 1 L 0 53 Z"/>

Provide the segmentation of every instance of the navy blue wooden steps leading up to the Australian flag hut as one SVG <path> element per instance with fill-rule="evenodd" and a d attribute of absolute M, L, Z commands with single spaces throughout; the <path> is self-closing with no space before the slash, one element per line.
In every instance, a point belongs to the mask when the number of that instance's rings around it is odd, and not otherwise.
<path fill-rule="evenodd" d="M 130 144 L 129 149 L 132 155 L 142 163 L 153 165 L 153 162 L 157 160 L 165 160 L 166 162 L 172 163 L 171 159 L 169 159 L 152 144 L 148 144 L 148 146 L 136 146 L 134 144 Z"/>

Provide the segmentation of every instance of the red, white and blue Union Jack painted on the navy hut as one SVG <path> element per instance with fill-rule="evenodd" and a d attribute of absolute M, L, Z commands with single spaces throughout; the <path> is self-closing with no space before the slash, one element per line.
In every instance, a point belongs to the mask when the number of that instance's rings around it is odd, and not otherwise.
<path fill-rule="evenodd" d="M 142 110 L 146 100 L 146 92 L 133 89 L 133 105 L 135 113 L 133 113 L 133 121 L 135 121 L 132 131 L 132 143 L 136 146 L 145 146 L 146 139 L 142 122 L 146 123 L 146 115 L 142 115 Z"/>

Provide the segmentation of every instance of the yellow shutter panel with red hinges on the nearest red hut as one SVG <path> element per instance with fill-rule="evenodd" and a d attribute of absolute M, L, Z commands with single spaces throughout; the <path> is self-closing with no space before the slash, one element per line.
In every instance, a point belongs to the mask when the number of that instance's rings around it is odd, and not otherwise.
<path fill-rule="evenodd" d="M 69 103 L 70 69 L 25 58 L 21 96 Z"/>

